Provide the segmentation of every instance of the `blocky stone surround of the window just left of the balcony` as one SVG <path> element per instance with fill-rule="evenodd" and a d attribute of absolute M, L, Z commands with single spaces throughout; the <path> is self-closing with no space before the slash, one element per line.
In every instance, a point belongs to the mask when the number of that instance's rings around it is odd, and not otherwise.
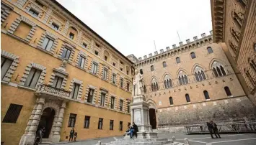
<path fill-rule="evenodd" d="M 37 86 L 40 83 L 43 83 L 43 81 L 45 80 L 45 75 L 46 75 L 46 67 L 43 65 L 39 65 L 37 63 L 31 62 L 29 65 L 27 65 L 27 67 L 25 68 L 25 72 L 22 75 L 22 78 L 20 79 L 19 85 L 25 85 L 25 82 L 27 80 L 28 75 L 30 74 L 30 70 L 32 69 L 32 67 L 35 67 L 38 70 L 42 70 L 40 77 L 37 81 L 37 85 L 35 85 L 35 88 L 37 88 Z"/>

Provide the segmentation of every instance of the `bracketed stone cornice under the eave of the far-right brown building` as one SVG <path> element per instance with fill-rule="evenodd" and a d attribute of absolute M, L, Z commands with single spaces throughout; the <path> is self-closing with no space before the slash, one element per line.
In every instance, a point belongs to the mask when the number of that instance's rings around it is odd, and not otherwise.
<path fill-rule="evenodd" d="M 224 42 L 225 0 L 211 0 L 213 42 Z"/>

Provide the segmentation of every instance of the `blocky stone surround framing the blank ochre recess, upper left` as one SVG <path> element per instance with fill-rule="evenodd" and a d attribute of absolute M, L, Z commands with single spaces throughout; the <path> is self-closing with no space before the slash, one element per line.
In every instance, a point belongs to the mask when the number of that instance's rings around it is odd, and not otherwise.
<path fill-rule="evenodd" d="M 14 34 L 14 32 L 17 29 L 17 27 L 19 26 L 20 22 L 25 22 L 26 24 L 29 24 L 30 26 L 32 26 L 32 29 L 30 29 L 30 32 L 29 32 L 29 34 L 27 34 L 27 37 L 25 39 L 27 42 L 30 42 L 30 40 L 32 39 L 32 37 L 35 34 L 37 25 L 34 22 L 30 21 L 30 19 L 27 19 L 24 16 L 21 16 L 21 17 L 18 17 L 17 19 L 15 19 L 14 22 L 12 22 L 11 27 L 9 27 L 8 32 L 11 34 Z"/>

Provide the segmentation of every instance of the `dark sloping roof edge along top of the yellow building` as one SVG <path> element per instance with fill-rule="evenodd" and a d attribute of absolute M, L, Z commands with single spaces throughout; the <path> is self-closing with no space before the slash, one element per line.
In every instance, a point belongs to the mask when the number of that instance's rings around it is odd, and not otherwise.
<path fill-rule="evenodd" d="M 93 34 L 95 34 L 97 37 L 99 37 L 100 39 L 102 39 L 103 42 L 105 42 L 107 45 L 109 45 L 113 50 L 115 50 L 115 52 L 118 52 L 119 55 L 121 55 L 122 57 L 125 58 L 125 60 L 127 60 L 128 62 L 130 62 L 131 64 L 133 64 L 133 62 L 131 60 L 129 60 L 127 57 L 125 57 L 125 55 L 123 55 L 121 52 L 119 52 L 115 47 L 113 47 L 112 45 L 110 45 L 109 42 L 107 42 L 105 39 L 103 39 L 99 34 L 97 34 L 96 32 L 94 32 L 94 30 L 92 30 L 89 26 L 87 26 L 87 24 L 84 24 L 84 22 L 82 22 L 78 17 L 76 17 L 74 14 L 72 14 L 68 9 L 66 9 L 64 6 L 62 6 L 60 3 L 58 3 L 58 1 L 56 0 L 51 0 L 53 1 L 53 3 L 57 4 L 58 6 L 61 7 L 61 9 L 63 9 L 64 11 L 66 11 L 68 14 L 71 15 L 71 17 L 74 17 L 74 19 L 76 19 L 79 23 L 81 23 L 84 27 L 86 27 L 87 29 L 89 29 L 89 31 L 91 31 Z"/>

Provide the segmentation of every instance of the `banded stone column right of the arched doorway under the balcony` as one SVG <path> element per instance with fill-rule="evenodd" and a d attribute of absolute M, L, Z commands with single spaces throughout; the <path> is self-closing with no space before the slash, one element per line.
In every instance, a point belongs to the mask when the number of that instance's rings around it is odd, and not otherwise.
<path fill-rule="evenodd" d="M 52 138 L 53 143 L 59 142 L 61 139 L 61 126 L 63 122 L 63 115 L 65 112 L 65 108 L 66 108 L 66 101 L 63 101 L 63 103 L 61 104 L 60 112 L 58 113 L 57 123 L 53 132 L 53 138 Z"/>

